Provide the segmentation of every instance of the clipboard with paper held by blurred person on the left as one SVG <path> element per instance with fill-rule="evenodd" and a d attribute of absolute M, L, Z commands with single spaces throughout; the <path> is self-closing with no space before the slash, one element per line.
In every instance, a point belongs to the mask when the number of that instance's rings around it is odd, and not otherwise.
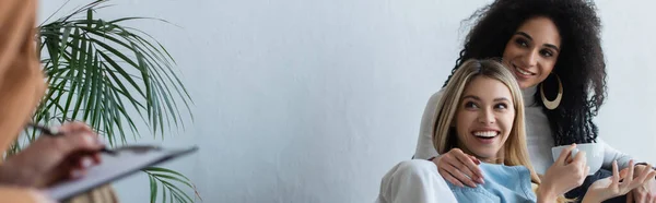
<path fill-rule="evenodd" d="M 63 201 L 77 194 L 128 177 L 147 167 L 165 163 L 198 151 L 189 148 L 162 148 L 151 145 L 132 145 L 114 150 L 116 154 L 101 154 L 102 163 L 89 168 L 80 179 L 67 180 L 48 187 L 44 191 L 57 201 Z"/>

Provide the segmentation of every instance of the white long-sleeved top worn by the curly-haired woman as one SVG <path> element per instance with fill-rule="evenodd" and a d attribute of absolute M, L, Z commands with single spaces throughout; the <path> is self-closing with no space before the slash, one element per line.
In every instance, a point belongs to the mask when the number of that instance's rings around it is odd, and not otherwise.
<path fill-rule="evenodd" d="M 551 136 L 551 128 L 549 128 L 547 115 L 542 111 L 542 107 L 535 101 L 537 89 L 537 86 L 534 86 L 523 91 L 527 136 L 526 144 L 528 145 L 529 159 L 535 167 L 536 172 L 544 174 L 544 171 L 553 164 L 553 158 L 551 156 L 553 138 Z M 437 117 L 437 103 L 442 97 L 442 92 L 443 91 L 440 91 L 433 94 L 426 104 L 426 108 L 424 109 L 421 119 L 414 158 L 429 159 L 440 155 L 435 147 L 433 147 L 432 138 Z M 631 160 L 632 157 L 614 150 L 600 138 L 597 138 L 597 143 L 601 143 L 605 146 L 604 164 L 601 165 L 601 168 L 611 170 L 612 162 L 616 159 L 618 160 L 620 169 L 629 166 L 629 160 Z M 639 162 L 634 160 L 634 163 Z"/>

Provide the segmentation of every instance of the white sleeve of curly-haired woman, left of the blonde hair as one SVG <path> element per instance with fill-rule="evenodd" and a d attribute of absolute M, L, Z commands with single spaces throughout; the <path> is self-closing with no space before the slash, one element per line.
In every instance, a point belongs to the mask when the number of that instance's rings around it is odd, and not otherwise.
<path fill-rule="evenodd" d="M 435 131 L 435 121 L 437 118 L 437 103 L 442 97 L 443 91 L 440 91 L 431 96 L 423 116 L 421 117 L 421 126 L 419 127 L 419 139 L 417 141 L 417 150 L 413 158 L 429 159 L 438 156 L 437 150 L 433 146 L 433 134 Z"/>

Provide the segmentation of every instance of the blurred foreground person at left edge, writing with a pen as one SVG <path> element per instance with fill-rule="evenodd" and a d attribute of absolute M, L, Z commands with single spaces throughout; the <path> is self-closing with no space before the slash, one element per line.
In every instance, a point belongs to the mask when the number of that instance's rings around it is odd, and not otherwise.
<path fill-rule="evenodd" d="M 35 46 L 37 0 L 0 0 L 0 152 L 4 153 L 25 128 L 46 91 Z M 54 202 L 40 191 L 50 183 L 80 178 L 95 164 L 69 155 L 103 147 L 84 123 L 60 127 L 67 136 L 39 136 L 13 156 L 0 158 L 0 202 Z M 90 162 L 84 162 L 90 160 Z M 96 159 L 97 160 L 97 159 Z M 86 164 L 85 164 L 86 163 Z M 110 186 L 99 187 L 63 202 L 118 202 Z"/>

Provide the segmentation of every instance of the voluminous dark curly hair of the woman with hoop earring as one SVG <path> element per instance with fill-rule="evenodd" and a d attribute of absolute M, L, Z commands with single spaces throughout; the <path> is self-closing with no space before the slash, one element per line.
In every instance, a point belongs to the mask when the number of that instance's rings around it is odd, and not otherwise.
<path fill-rule="evenodd" d="M 555 145 L 596 142 L 593 117 L 606 97 L 606 63 L 601 50 L 600 21 L 596 5 L 585 0 L 496 0 L 465 22 L 475 21 L 453 73 L 468 59 L 501 58 L 506 43 L 528 19 L 553 21 L 561 36 L 561 52 L 553 69 L 563 85 L 563 97 L 554 110 L 544 108 Z M 444 83 L 448 83 L 450 76 Z M 542 82 L 546 96 L 554 98 L 553 76 Z M 539 94 L 536 100 L 543 106 Z"/>

